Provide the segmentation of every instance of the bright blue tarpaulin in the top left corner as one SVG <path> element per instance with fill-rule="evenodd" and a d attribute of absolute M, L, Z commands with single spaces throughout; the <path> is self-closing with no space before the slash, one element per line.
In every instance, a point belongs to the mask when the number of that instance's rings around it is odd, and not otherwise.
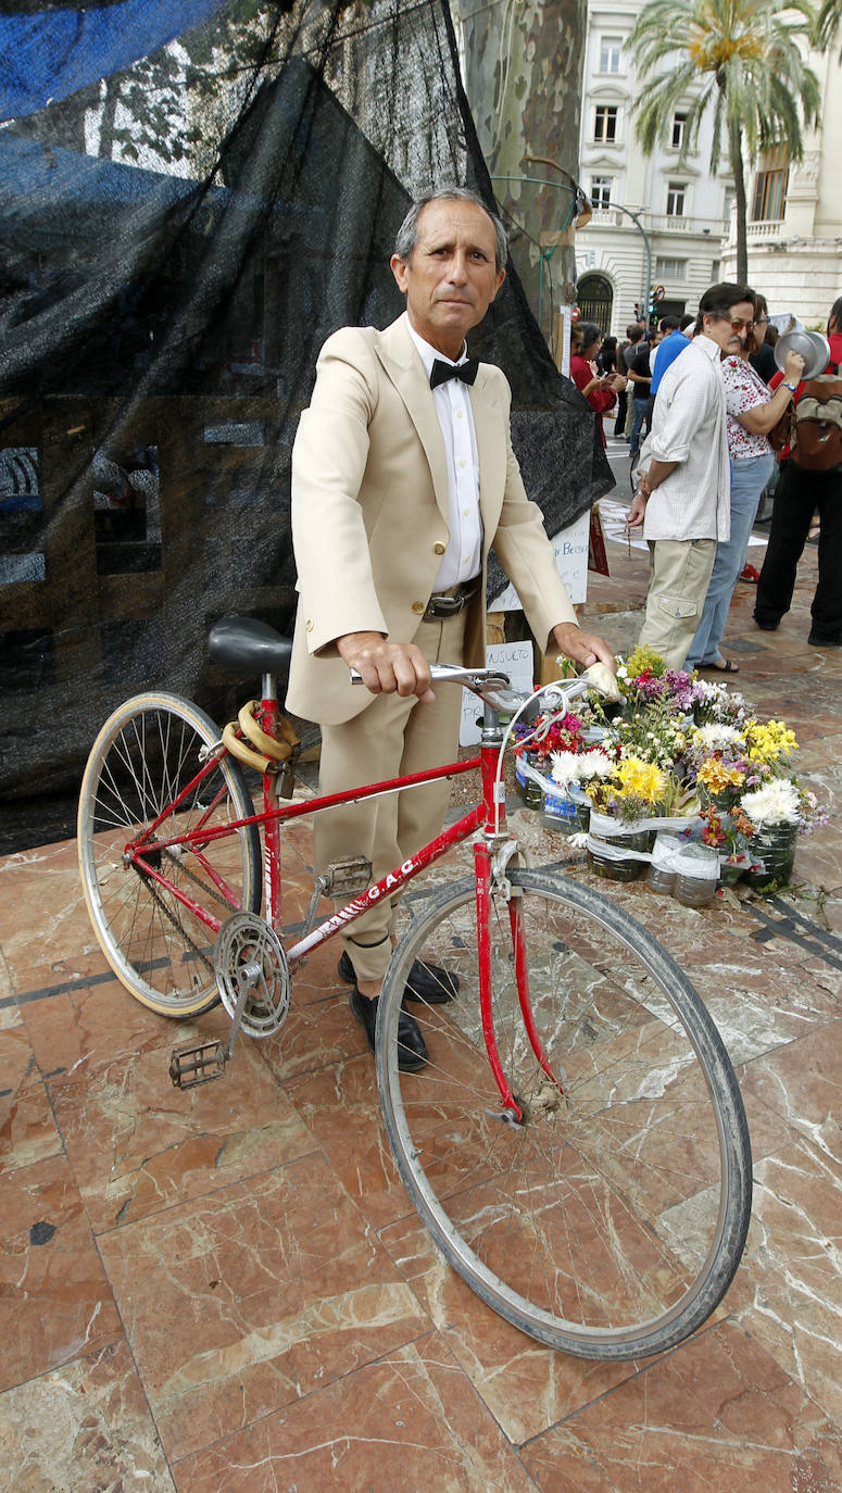
<path fill-rule="evenodd" d="M 119 0 L 0 15 L 0 121 L 110 78 L 210 19 L 224 0 Z"/>

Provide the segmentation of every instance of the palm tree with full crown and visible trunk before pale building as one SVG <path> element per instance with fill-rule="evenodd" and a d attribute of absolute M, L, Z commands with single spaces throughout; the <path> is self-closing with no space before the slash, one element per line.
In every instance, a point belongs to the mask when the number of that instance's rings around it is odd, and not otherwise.
<path fill-rule="evenodd" d="M 714 113 L 711 173 L 718 170 L 726 136 L 740 284 L 748 281 L 743 142 L 749 158 L 781 140 L 790 160 L 802 158 L 802 121 L 812 124 L 821 106 L 818 79 L 799 51 L 799 37 L 808 37 L 812 22 L 809 0 L 649 0 L 632 33 L 640 79 L 649 78 L 636 105 L 645 154 L 666 143 L 676 106 L 687 115 L 681 160 L 696 149 L 708 110 Z"/>

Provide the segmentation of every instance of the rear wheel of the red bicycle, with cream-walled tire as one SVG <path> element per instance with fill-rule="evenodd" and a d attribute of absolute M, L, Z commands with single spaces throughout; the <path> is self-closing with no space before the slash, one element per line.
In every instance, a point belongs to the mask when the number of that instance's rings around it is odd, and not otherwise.
<path fill-rule="evenodd" d="M 102 727 L 79 793 L 78 851 L 85 902 L 100 948 L 125 988 L 161 1015 L 187 1018 L 219 1000 L 213 933 L 170 891 L 124 860 L 124 850 L 187 787 L 200 752 L 219 741 L 209 715 L 176 694 L 137 694 Z M 169 826 L 190 830 L 216 794 L 209 826 L 254 812 L 243 773 L 222 757 Z M 163 853 L 158 853 L 163 854 Z M 254 824 L 210 841 L 203 861 L 175 847 L 167 878 L 219 920 L 260 912 L 260 835 Z M 164 861 L 160 861 L 164 864 Z M 209 869 L 222 875 L 224 897 Z"/>

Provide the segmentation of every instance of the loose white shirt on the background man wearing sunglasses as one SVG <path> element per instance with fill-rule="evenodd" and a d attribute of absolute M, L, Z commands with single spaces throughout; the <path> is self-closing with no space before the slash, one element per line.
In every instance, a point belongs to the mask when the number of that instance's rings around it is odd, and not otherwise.
<path fill-rule="evenodd" d="M 732 526 L 732 476 L 720 346 L 699 333 L 666 370 L 640 472 L 678 461 L 646 503 L 646 539 L 720 539 Z"/>

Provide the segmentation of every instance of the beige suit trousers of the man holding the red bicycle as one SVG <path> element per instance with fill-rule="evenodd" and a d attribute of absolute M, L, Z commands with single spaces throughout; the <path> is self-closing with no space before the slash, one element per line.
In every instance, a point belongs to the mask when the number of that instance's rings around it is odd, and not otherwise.
<path fill-rule="evenodd" d="M 464 618 L 463 611 L 445 621 L 421 623 L 415 643 L 430 663 L 461 663 Z M 431 705 L 421 705 L 415 696 L 403 700 L 397 694 L 378 694 L 352 721 L 322 727 L 319 793 L 342 793 L 454 761 L 461 685 L 440 684 L 434 688 Z M 364 855 L 372 861 L 372 881 L 379 881 L 440 832 L 449 793 L 451 784 L 443 778 L 422 788 L 405 788 L 316 814 L 316 872 L 345 855 Z M 384 976 L 391 957 L 390 936 L 397 918 L 397 900 L 384 897 L 375 903 L 342 939 L 357 979 Z"/>

